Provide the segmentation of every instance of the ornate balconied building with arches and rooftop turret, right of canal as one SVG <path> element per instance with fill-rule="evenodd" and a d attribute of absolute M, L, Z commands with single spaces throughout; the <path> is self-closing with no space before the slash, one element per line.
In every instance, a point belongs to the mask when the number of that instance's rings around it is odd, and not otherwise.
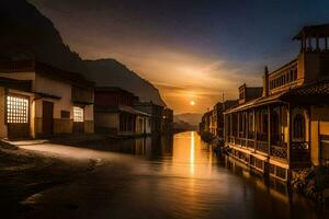
<path fill-rule="evenodd" d="M 297 58 L 263 74 L 263 91 L 225 113 L 230 154 L 247 165 L 287 181 L 294 170 L 329 159 L 329 25 L 306 26 L 294 37 Z M 257 93 L 259 94 L 259 91 Z"/>

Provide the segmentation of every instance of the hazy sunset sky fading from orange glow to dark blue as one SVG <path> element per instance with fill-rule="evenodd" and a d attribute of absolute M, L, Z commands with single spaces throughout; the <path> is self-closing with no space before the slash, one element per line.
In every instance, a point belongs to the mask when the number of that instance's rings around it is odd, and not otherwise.
<path fill-rule="evenodd" d="M 30 0 L 82 58 L 115 58 L 152 82 L 175 113 L 261 84 L 293 59 L 303 25 L 329 23 L 328 0 Z M 191 101 L 195 105 L 190 105 Z"/>

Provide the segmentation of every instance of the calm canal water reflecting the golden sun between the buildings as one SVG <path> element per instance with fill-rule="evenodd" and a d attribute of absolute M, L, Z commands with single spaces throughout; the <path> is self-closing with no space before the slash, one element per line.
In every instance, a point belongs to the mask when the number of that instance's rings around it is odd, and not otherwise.
<path fill-rule="evenodd" d="M 32 197 L 31 218 L 328 218 L 328 209 L 218 157 L 196 132 L 87 149 L 92 174 Z M 58 151 L 60 152 L 60 151 Z M 80 153 L 78 153 L 80 152 Z M 82 155 L 83 157 L 83 155 Z"/>

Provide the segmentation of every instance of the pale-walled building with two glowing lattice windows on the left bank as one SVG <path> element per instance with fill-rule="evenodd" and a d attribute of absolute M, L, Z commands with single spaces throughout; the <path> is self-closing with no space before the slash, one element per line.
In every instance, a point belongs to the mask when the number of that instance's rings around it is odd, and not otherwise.
<path fill-rule="evenodd" d="M 37 61 L 1 61 L 1 137 L 93 132 L 93 82 Z"/>

